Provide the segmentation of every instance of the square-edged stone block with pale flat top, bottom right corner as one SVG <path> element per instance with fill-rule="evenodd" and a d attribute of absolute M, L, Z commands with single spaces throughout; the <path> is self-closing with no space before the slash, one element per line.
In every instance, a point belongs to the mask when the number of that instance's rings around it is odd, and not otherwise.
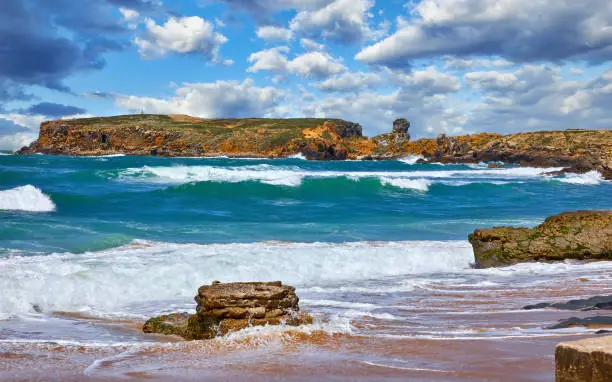
<path fill-rule="evenodd" d="M 560 343 L 555 363 L 557 382 L 612 381 L 612 336 Z"/>

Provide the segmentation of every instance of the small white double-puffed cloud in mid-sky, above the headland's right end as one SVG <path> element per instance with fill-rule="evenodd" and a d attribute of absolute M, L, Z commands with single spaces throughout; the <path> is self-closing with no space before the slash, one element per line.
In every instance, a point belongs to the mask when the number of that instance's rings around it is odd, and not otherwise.
<path fill-rule="evenodd" d="M 289 60 L 286 46 L 271 48 L 253 53 L 249 56 L 249 72 L 262 70 L 279 74 L 295 74 L 305 78 L 326 78 L 346 70 L 339 59 L 325 52 L 308 52 Z"/>

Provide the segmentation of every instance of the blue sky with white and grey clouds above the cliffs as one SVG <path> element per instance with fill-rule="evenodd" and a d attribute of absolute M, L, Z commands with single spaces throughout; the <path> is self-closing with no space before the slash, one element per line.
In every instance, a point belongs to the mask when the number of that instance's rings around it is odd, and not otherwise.
<path fill-rule="evenodd" d="M 609 129 L 611 59 L 610 0 L 2 0 L 0 150 L 140 112 Z"/>

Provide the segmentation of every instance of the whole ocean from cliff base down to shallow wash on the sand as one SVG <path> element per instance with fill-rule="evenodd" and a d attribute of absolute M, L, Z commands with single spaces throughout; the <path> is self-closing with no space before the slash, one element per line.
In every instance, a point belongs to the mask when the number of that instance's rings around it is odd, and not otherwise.
<path fill-rule="evenodd" d="M 552 380 L 593 331 L 545 328 L 592 313 L 520 308 L 612 294 L 612 264 L 473 269 L 467 235 L 611 209 L 612 183 L 417 160 L 0 155 L 0 379 Z M 315 323 L 140 332 L 213 280 L 293 285 Z"/>

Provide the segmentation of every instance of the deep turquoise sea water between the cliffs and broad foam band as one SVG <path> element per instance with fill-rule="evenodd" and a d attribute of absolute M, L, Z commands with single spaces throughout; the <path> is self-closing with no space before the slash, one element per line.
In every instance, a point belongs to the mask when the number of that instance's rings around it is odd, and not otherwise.
<path fill-rule="evenodd" d="M 135 239 L 465 240 L 475 228 L 533 226 L 566 210 L 612 208 L 612 184 L 594 173 L 553 178 L 546 169 L 413 161 L 4 155 L 0 257 L 100 251 Z M 26 185 L 40 193 L 3 193 Z M 16 205 L 7 200 L 36 209 L 44 195 L 54 208 L 42 209 L 52 211 L 10 210 Z"/>

